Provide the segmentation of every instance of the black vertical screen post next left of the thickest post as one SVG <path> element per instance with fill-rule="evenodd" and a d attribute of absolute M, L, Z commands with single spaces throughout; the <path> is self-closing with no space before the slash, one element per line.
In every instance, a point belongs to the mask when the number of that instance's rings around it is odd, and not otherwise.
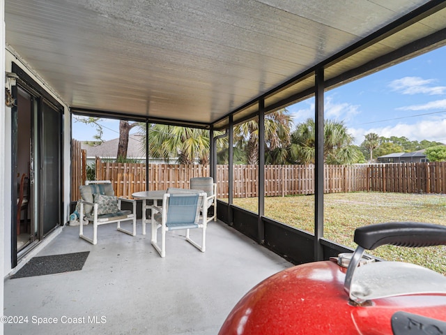
<path fill-rule="evenodd" d="M 257 216 L 257 229 L 259 243 L 265 242 L 265 100 L 259 99 L 259 214 Z"/>

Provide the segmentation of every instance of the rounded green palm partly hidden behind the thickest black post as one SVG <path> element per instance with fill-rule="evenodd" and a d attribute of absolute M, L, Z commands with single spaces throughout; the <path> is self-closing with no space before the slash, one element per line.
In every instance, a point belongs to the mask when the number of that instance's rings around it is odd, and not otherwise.
<path fill-rule="evenodd" d="M 324 163 L 350 164 L 359 159 L 359 152 L 352 144 L 355 138 L 348 133 L 344 121 L 324 122 Z M 314 163 L 316 149 L 316 124 L 314 119 L 299 124 L 291 134 L 290 155 L 295 163 Z"/>

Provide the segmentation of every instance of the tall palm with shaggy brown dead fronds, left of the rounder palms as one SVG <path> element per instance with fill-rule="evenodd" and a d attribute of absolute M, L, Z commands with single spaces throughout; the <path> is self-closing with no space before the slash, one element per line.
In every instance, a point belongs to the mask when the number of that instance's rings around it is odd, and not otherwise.
<path fill-rule="evenodd" d="M 284 161 L 283 151 L 289 146 L 293 119 L 286 108 L 265 116 L 265 153 L 267 163 Z M 234 127 L 236 147 L 243 148 L 247 164 L 259 163 L 259 120 L 253 119 Z M 285 150 L 286 151 L 286 150 Z"/>

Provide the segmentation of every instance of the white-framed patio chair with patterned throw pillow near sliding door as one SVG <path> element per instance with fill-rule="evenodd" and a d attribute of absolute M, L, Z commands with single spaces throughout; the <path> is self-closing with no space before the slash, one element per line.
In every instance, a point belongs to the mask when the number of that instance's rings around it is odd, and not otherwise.
<path fill-rule="evenodd" d="M 91 244 L 98 243 L 98 226 L 117 223 L 117 230 L 135 236 L 137 234 L 137 202 L 114 196 L 112 182 L 109 180 L 86 181 L 79 186 L 82 200 L 79 209 L 79 237 Z M 121 202 L 133 204 L 133 210 L 121 210 Z M 93 238 L 84 235 L 84 217 L 93 221 Z M 121 228 L 121 221 L 132 221 L 133 230 Z"/>

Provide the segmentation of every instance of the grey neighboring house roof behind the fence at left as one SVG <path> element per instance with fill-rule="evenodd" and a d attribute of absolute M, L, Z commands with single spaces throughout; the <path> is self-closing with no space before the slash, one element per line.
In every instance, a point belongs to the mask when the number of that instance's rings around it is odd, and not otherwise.
<path fill-rule="evenodd" d="M 146 158 L 145 147 L 142 144 L 143 137 L 141 135 L 129 135 L 128 137 L 128 149 L 127 158 Z M 118 152 L 119 139 L 102 142 L 99 145 L 91 146 L 86 142 L 82 142 L 82 149 L 86 149 L 87 158 L 116 158 Z"/>

